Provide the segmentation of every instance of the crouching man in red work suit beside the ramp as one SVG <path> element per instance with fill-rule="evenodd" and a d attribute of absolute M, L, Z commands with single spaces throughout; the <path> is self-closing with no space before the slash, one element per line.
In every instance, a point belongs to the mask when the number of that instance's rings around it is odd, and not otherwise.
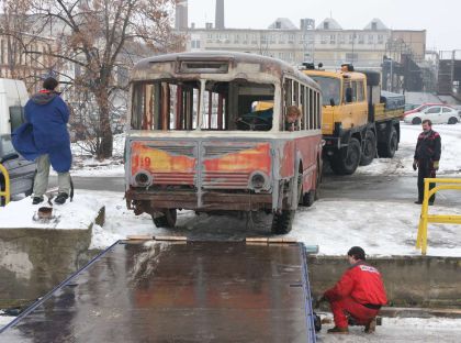
<path fill-rule="evenodd" d="M 335 328 L 328 333 L 349 333 L 347 314 L 357 324 L 366 325 L 367 333 L 372 333 L 376 314 L 387 302 L 383 280 L 376 268 L 366 264 L 363 248 L 352 246 L 347 255 L 351 266 L 322 299 L 330 303 L 335 319 Z"/>

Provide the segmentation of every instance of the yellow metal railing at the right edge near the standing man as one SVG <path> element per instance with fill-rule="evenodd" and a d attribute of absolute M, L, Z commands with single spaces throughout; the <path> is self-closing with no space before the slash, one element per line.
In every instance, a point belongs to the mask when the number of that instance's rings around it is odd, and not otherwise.
<path fill-rule="evenodd" d="M 429 190 L 429 184 L 443 184 L 436 186 Z M 461 190 L 461 179 L 440 179 L 440 178 L 425 178 L 424 179 L 424 200 L 421 206 L 421 215 L 419 218 L 418 236 L 416 239 L 416 248 L 420 248 L 421 254 L 427 252 L 427 224 L 461 224 L 461 215 L 449 214 L 429 214 L 428 204 L 429 198 L 439 190 L 454 189 Z"/>

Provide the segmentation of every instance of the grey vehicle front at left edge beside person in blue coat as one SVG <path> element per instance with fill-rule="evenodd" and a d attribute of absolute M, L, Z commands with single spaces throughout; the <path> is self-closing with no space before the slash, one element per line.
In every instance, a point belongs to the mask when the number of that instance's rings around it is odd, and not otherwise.
<path fill-rule="evenodd" d="M 30 196 L 34 186 L 36 164 L 20 156 L 11 143 L 10 134 L 0 135 L 0 163 L 10 175 L 11 196 Z M 0 187 L 4 190 L 4 176 L 0 174 Z M 4 201 L 2 198 L 1 202 Z"/>

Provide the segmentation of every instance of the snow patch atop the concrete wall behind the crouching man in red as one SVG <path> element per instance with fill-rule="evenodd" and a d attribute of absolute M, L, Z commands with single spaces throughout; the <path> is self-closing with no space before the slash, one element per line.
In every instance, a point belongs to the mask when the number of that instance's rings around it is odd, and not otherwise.
<path fill-rule="evenodd" d="M 434 206 L 430 213 L 461 214 L 461 209 Z M 353 245 L 367 247 L 369 255 L 419 255 L 419 214 L 414 203 L 319 200 L 299 210 L 289 236 L 318 245 L 322 255 L 346 255 Z M 430 224 L 427 254 L 461 256 L 459 228 Z"/>

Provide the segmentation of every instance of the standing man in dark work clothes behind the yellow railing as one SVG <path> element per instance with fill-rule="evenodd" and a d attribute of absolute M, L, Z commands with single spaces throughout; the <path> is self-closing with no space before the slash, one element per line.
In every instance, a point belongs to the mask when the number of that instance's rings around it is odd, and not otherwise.
<path fill-rule="evenodd" d="M 423 203 L 424 199 L 424 179 L 426 177 L 436 177 L 436 170 L 439 169 L 439 161 L 441 153 L 440 135 L 432 130 L 432 123 L 426 119 L 423 121 L 423 132 L 418 136 L 416 143 L 415 159 L 413 169 L 418 169 L 418 200 L 415 203 Z M 429 184 L 429 189 L 435 187 L 434 182 Z M 434 204 L 436 195 L 429 198 L 429 204 Z"/>

